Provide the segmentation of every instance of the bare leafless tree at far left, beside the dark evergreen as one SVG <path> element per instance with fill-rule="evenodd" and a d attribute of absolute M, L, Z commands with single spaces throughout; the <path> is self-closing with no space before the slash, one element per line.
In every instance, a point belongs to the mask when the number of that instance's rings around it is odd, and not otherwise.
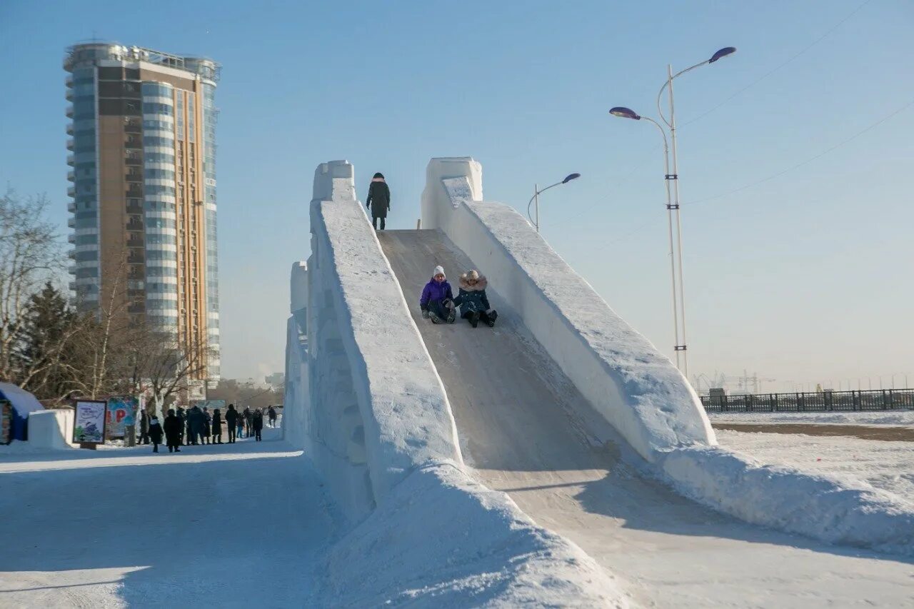
<path fill-rule="evenodd" d="M 13 353 L 32 294 L 63 270 L 61 243 L 45 219 L 48 198 L 0 197 L 0 379 L 16 379 Z"/>

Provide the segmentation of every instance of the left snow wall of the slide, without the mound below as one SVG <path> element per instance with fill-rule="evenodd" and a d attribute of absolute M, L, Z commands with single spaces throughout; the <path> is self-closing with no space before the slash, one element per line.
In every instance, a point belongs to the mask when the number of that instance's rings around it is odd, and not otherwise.
<path fill-rule="evenodd" d="M 307 400 L 304 383 L 292 390 L 303 409 L 303 448 L 350 516 L 360 517 L 416 467 L 462 463 L 462 455 L 441 379 L 356 200 L 352 166 L 318 166 L 314 195 Z"/>

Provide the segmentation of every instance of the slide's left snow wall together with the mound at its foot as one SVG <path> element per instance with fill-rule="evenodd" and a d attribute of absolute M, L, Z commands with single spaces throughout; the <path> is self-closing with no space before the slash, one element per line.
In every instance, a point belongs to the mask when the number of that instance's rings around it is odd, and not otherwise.
<path fill-rule="evenodd" d="M 307 349 L 287 349 L 299 380 L 285 416 L 356 524 L 329 550 L 327 598 L 623 604 L 589 556 L 464 469 L 441 379 L 345 161 L 315 172 L 311 231 L 306 322 L 289 335 L 307 326 Z"/>

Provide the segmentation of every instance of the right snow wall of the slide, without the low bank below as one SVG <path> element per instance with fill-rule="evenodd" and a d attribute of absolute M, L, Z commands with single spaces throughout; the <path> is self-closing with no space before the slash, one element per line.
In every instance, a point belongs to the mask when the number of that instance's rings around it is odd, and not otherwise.
<path fill-rule="evenodd" d="M 443 231 L 479 265 L 494 292 L 645 459 L 715 444 L 707 414 L 673 363 L 616 315 L 526 219 L 483 202 L 482 192 L 482 166 L 473 158 L 431 159 L 423 228 Z"/>

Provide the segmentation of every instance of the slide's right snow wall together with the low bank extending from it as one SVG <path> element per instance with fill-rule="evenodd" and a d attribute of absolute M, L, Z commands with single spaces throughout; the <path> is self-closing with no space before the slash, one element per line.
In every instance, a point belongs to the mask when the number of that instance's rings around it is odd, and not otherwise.
<path fill-rule="evenodd" d="M 718 447 L 685 377 L 515 209 L 484 202 L 472 158 L 430 161 L 422 227 L 472 255 L 593 408 L 683 495 L 755 524 L 914 554 L 914 513 L 893 497 Z"/>

